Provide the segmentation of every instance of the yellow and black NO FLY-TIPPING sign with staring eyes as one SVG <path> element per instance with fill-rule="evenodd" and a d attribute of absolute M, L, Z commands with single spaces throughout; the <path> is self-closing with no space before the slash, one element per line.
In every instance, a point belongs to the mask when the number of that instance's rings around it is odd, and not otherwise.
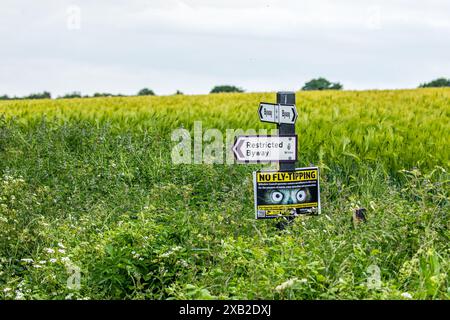
<path fill-rule="evenodd" d="M 253 172 L 256 219 L 320 214 L 319 168 Z"/>

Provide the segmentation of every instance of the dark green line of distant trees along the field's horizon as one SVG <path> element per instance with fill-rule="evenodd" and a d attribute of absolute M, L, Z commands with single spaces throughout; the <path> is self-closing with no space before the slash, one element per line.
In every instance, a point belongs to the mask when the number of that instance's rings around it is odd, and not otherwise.
<path fill-rule="evenodd" d="M 442 88 L 442 87 L 450 87 L 450 78 L 437 78 L 430 82 L 422 83 L 418 88 Z M 312 79 L 304 84 L 301 88 L 303 91 L 310 90 L 342 90 L 344 86 L 339 82 L 330 82 L 323 77 L 319 77 L 316 79 Z M 244 89 L 240 87 L 236 87 L 233 85 L 218 85 L 211 89 L 210 93 L 240 93 L 245 92 Z M 182 95 L 183 92 L 177 90 L 175 95 Z M 139 90 L 136 96 L 154 96 L 155 92 L 149 88 L 143 88 Z M 127 97 L 124 94 L 112 94 L 112 93 L 94 93 L 92 96 L 82 95 L 81 92 L 74 91 L 71 93 L 67 93 L 63 96 L 58 96 L 56 99 L 74 99 L 74 98 L 98 98 L 98 97 Z M 8 95 L 0 96 L 0 100 L 28 100 L 28 99 L 51 99 L 52 96 L 50 92 L 44 91 L 42 93 L 32 93 L 28 96 L 23 97 L 9 97 Z"/>

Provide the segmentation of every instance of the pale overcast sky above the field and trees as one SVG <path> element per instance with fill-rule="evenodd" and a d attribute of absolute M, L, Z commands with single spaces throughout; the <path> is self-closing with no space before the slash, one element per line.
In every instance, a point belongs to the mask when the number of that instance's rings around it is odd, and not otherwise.
<path fill-rule="evenodd" d="M 1 0 L 0 95 L 413 88 L 450 77 L 450 1 Z"/>

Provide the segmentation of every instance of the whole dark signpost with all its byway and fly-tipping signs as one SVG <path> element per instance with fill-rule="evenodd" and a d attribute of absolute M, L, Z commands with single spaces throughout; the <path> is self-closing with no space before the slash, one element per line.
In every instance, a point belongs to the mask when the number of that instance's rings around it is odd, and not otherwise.
<path fill-rule="evenodd" d="M 253 172 L 256 219 L 320 213 L 319 169 L 295 168 L 297 135 L 294 92 L 278 92 L 277 103 L 261 102 L 259 119 L 276 123 L 277 136 L 239 136 L 233 145 L 238 162 L 277 161 L 279 171 Z"/>

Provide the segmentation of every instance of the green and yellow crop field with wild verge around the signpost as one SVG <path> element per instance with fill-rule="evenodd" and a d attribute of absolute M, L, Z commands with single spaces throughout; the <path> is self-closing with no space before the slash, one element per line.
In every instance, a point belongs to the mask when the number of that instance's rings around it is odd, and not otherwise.
<path fill-rule="evenodd" d="M 268 165 L 171 157 L 196 121 L 272 129 L 260 101 L 0 102 L 0 299 L 449 299 L 450 89 L 298 92 L 322 213 L 283 230 L 255 220 Z"/>

